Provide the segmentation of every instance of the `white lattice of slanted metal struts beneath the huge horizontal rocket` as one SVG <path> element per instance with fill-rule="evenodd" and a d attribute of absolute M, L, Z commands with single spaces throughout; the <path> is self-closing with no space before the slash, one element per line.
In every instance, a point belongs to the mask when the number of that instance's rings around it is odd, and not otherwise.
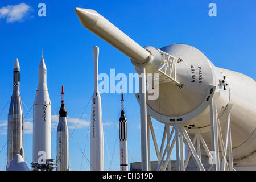
<path fill-rule="evenodd" d="M 152 125 L 151 117 L 147 115 L 147 141 L 149 150 L 149 133 L 151 131 L 151 137 L 154 143 L 156 156 L 158 158 L 158 166 L 156 170 L 171 170 L 171 153 L 176 144 L 176 169 L 178 171 L 185 171 L 188 166 L 189 159 L 193 159 L 196 167 L 200 171 L 204 171 L 205 167 L 201 162 L 201 157 L 203 154 L 207 154 L 209 158 L 210 167 L 207 170 L 230 170 L 233 171 L 233 158 L 232 158 L 232 141 L 231 141 L 231 130 L 230 130 L 230 116 L 226 119 L 226 131 L 225 136 L 222 136 L 220 121 L 218 119 L 218 114 L 216 110 L 216 104 L 210 101 L 210 121 L 211 121 L 211 136 L 212 136 L 212 151 L 209 150 L 203 136 L 198 130 L 193 139 L 189 138 L 187 133 L 187 128 L 181 126 L 179 123 L 175 123 L 172 126 L 170 133 L 170 125 L 165 125 L 163 131 L 162 142 L 160 145 L 160 150 L 158 148 L 158 143 L 156 142 L 154 127 Z M 225 137 L 225 139 L 224 139 Z M 187 158 L 184 159 L 184 144 L 188 147 Z M 219 150 L 220 147 L 220 150 Z M 205 152 L 202 153 L 201 150 Z M 218 152 L 214 152 L 218 151 Z M 148 156 L 149 156 L 148 151 Z M 229 161 L 227 160 L 229 157 Z M 148 158 L 148 163 L 150 163 L 150 158 Z"/>

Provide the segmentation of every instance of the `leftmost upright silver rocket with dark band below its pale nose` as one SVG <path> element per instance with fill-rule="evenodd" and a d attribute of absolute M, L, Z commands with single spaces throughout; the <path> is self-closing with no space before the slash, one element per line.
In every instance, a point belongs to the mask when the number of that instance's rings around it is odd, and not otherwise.
<path fill-rule="evenodd" d="M 19 61 L 15 60 L 13 68 L 13 95 L 8 114 L 8 149 L 7 166 L 8 167 L 16 154 L 20 154 L 24 159 L 23 150 L 23 110 L 19 93 Z"/>

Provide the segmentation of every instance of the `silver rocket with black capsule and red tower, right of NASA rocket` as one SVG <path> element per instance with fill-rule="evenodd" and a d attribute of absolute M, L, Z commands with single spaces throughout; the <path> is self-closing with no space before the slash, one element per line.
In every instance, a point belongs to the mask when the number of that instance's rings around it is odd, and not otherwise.
<path fill-rule="evenodd" d="M 61 107 L 59 111 L 59 123 L 57 128 L 57 171 L 69 170 L 69 138 L 67 111 L 64 102 L 64 89 L 61 92 Z"/>

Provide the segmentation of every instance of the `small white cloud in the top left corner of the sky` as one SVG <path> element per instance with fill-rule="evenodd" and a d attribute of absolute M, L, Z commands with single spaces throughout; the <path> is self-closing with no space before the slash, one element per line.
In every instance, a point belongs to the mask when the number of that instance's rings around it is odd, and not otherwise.
<path fill-rule="evenodd" d="M 32 8 L 25 3 L 19 5 L 7 5 L 0 8 L 0 19 L 6 18 L 7 23 L 22 22 Z"/>

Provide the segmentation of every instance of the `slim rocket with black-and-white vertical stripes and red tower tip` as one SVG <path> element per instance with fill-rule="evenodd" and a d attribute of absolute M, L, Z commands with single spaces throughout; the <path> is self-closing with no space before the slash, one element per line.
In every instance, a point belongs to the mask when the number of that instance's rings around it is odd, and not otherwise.
<path fill-rule="evenodd" d="M 123 94 L 121 100 L 121 116 L 119 119 L 119 138 L 120 138 L 120 170 L 128 171 L 128 152 L 127 152 L 127 120 L 123 108 Z"/>

